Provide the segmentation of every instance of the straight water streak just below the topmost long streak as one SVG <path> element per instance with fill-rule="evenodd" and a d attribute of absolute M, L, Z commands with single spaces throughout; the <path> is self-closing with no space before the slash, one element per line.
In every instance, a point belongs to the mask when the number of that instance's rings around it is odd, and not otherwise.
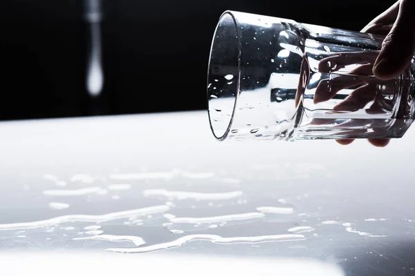
<path fill-rule="evenodd" d="M 196 199 L 196 200 L 223 200 L 234 199 L 243 195 L 241 190 L 235 190 L 228 193 L 194 193 L 183 191 L 169 191 L 165 189 L 143 190 L 145 197 L 169 197 L 178 200 L 182 199 Z"/>

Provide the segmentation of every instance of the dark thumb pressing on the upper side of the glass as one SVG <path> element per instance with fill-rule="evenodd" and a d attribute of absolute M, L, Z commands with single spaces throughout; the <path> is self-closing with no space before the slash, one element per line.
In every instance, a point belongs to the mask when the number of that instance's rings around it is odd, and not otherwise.
<path fill-rule="evenodd" d="M 415 47 L 415 1 L 401 0 L 398 17 L 374 64 L 378 79 L 398 77 L 411 63 Z"/>

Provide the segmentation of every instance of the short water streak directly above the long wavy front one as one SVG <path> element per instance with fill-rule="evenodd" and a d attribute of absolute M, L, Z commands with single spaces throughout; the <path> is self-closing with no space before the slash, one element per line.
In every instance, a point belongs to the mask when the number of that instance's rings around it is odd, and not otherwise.
<path fill-rule="evenodd" d="M 246 219 L 260 219 L 265 217 L 263 213 L 244 213 L 235 215 L 221 215 L 216 217 L 174 217 L 170 222 L 176 224 L 212 224 L 223 221 L 235 221 Z"/>

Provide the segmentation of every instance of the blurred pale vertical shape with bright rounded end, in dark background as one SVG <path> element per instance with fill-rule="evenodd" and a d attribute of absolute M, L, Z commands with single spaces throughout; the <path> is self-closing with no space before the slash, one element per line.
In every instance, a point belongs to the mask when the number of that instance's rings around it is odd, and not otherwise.
<path fill-rule="evenodd" d="M 86 90 L 91 97 L 98 97 L 104 87 L 100 26 L 102 21 L 102 0 L 84 0 L 84 18 L 89 26 Z"/>

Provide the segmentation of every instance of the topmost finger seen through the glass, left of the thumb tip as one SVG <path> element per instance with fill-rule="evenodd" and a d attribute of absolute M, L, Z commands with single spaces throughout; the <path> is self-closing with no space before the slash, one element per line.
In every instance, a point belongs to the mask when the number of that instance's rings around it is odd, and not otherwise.
<path fill-rule="evenodd" d="M 338 71 L 345 66 L 359 63 L 374 64 L 378 57 L 378 52 L 342 52 L 333 57 L 321 59 L 318 63 L 318 72 L 328 73 Z"/>

